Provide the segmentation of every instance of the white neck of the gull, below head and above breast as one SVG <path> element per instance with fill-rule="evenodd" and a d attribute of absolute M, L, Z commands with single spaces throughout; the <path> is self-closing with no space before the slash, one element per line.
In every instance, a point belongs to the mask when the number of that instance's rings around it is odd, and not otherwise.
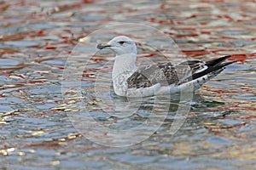
<path fill-rule="evenodd" d="M 136 58 L 137 54 L 116 55 L 113 63 L 112 78 L 136 69 Z"/>

